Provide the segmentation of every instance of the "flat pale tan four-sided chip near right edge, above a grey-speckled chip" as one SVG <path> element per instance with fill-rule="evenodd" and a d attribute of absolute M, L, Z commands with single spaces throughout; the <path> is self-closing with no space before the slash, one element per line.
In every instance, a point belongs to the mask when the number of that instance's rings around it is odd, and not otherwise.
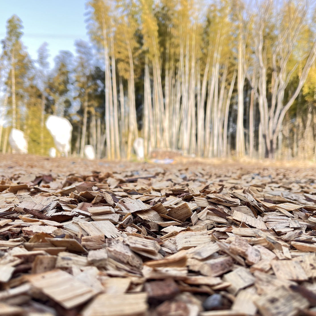
<path fill-rule="evenodd" d="M 280 280 L 305 281 L 308 279 L 300 263 L 293 260 L 272 260 L 272 269 Z"/>

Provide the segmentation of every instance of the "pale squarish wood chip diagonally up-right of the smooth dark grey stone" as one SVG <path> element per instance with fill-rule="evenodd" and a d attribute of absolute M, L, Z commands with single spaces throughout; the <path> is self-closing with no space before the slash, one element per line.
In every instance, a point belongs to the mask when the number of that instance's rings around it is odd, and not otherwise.
<path fill-rule="evenodd" d="M 255 277 L 244 267 L 239 267 L 223 276 L 223 281 L 229 282 L 231 286 L 228 287 L 228 291 L 234 295 L 240 289 L 252 285 L 255 282 Z"/>

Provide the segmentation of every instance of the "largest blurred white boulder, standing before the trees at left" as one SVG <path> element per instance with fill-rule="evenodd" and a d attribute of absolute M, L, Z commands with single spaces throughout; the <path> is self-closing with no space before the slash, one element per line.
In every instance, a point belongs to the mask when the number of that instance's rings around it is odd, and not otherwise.
<path fill-rule="evenodd" d="M 51 133 L 58 151 L 67 157 L 70 154 L 72 132 L 72 125 L 68 119 L 56 115 L 50 115 L 46 120 L 46 127 Z"/>

